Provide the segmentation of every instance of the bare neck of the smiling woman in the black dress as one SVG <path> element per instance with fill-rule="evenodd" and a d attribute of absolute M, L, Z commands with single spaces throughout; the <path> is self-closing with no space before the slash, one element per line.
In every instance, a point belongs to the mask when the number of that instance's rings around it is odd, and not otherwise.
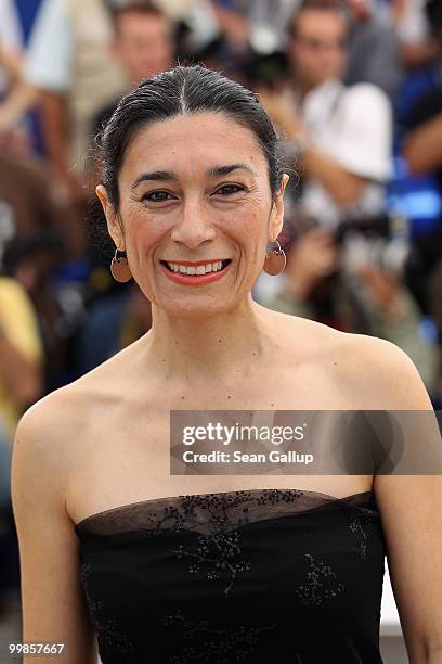
<path fill-rule="evenodd" d="M 232 310 L 173 316 L 152 305 L 153 323 L 144 336 L 148 363 L 168 380 L 243 381 L 274 348 L 269 309 L 251 294 Z M 151 365 L 151 366 L 152 366 Z"/>

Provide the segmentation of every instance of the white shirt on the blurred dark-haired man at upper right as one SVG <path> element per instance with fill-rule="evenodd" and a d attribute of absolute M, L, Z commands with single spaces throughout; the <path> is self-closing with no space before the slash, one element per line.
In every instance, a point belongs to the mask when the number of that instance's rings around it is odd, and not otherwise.
<path fill-rule="evenodd" d="M 339 207 L 316 180 L 304 183 L 302 207 L 322 225 L 336 227 L 346 216 L 382 212 L 391 176 L 392 114 L 388 97 L 372 84 L 346 87 L 326 81 L 309 92 L 301 117 L 312 143 L 349 173 L 370 180 L 352 208 Z"/>

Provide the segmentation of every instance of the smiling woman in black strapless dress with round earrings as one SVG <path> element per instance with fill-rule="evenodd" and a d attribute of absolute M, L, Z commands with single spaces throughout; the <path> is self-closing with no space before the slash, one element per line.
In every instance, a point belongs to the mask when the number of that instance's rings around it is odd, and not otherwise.
<path fill-rule="evenodd" d="M 153 325 L 31 407 L 13 454 L 24 639 L 69 664 L 95 633 L 104 664 L 381 662 L 385 544 L 411 660 L 440 659 L 440 477 L 170 474 L 171 410 L 431 410 L 391 343 L 252 301 L 284 264 L 276 143 L 256 97 L 200 66 L 143 81 L 104 130 L 113 274 Z"/>

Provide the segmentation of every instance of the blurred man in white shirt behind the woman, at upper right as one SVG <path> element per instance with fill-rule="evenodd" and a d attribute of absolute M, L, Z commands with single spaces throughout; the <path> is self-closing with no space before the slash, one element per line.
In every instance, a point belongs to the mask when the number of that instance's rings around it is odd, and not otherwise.
<path fill-rule="evenodd" d="M 391 175 L 388 97 L 373 84 L 342 82 L 350 28 L 347 5 L 304 0 L 291 23 L 290 86 L 258 90 L 301 171 L 302 213 L 328 228 L 380 214 Z"/>

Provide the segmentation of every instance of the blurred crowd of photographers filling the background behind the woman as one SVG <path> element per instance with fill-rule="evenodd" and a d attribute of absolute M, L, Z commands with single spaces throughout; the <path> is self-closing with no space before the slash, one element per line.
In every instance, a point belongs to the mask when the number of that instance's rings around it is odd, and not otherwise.
<path fill-rule="evenodd" d="M 253 297 L 398 344 L 441 405 L 439 0 L 1 0 L 0 598 L 18 584 L 21 414 L 152 323 L 86 218 L 101 128 L 177 62 L 256 91 L 278 132 L 287 267 Z"/>

